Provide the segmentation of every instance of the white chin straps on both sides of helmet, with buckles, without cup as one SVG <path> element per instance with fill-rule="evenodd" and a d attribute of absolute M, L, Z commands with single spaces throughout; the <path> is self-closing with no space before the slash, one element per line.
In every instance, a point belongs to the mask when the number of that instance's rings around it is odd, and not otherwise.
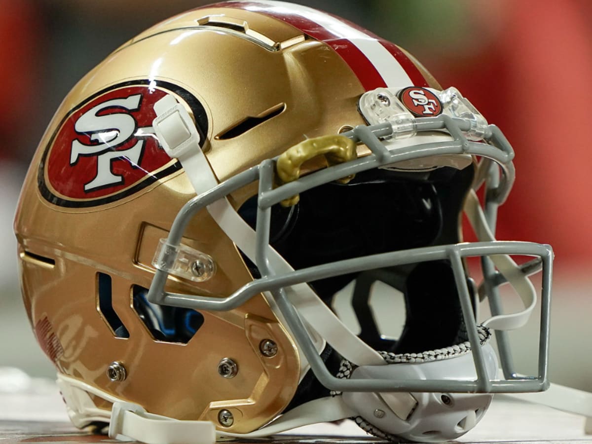
<path fill-rule="evenodd" d="M 218 180 L 201 150 L 200 136 L 183 105 L 179 104 L 172 95 L 167 95 L 155 104 L 155 112 L 157 117 L 153 121 L 153 128 L 156 136 L 165 152 L 181 162 L 197 195 L 217 186 Z M 240 217 L 230 202 L 226 198 L 222 198 L 208 205 L 207 210 L 236 246 L 255 262 L 255 230 Z M 480 240 L 495 240 L 488 229 L 487 221 L 474 193 L 469 195 L 465 211 Z M 276 250 L 271 246 L 267 248 L 269 265 L 276 273 L 285 274 L 294 271 Z M 525 310 L 516 314 L 492 317 L 485 321 L 485 324 L 493 329 L 502 330 L 520 327 L 526 323 L 535 305 L 535 289 L 509 256 L 495 255 L 491 257 L 491 260 L 516 289 L 525 304 Z M 319 352 L 324 348 L 324 338 L 343 358 L 356 365 L 385 365 L 385 361 L 379 353 L 352 334 L 307 284 L 294 285 L 286 290 L 301 318 L 314 330 L 311 332 L 313 336 L 314 333 L 318 333 L 320 336 L 320 338 L 312 338 L 316 342 Z M 275 308 L 271 295 L 266 295 L 266 297 L 271 307 Z M 278 310 L 274 311 L 279 318 L 282 318 Z M 303 358 L 302 353 L 300 355 Z M 301 368 L 301 375 L 308 369 L 305 359 L 302 361 L 304 364 Z M 408 393 L 395 392 L 390 395 L 397 398 L 402 404 L 414 403 L 413 397 Z M 117 439 L 130 437 L 147 443 L 211 443 L 214 442 L 216 433 L 218 436 L 268 436 L 305 424 L 343 419 L 356 413 L 343 403 L 342 397 L 321 398 L 294 408 L 260 430 L 244 435 L 232 435 L 215 432 L 214 425 L 210 422 L 178 421 L 147 413 L 143 408 L 134 404 L 115 403 L 112 411 L 111 437 Z"/>

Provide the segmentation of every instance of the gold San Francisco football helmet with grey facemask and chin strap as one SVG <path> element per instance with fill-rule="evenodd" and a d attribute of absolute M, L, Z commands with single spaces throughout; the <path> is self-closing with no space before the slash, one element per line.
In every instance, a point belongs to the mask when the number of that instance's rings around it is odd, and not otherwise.
<path fill-rule="evenodd" d="M 494 236 L 512 158 L 457 89 L 333 15 L 230 1 L 144 31 L 66 96 L 15 220 L 72 422 L 188 442 L 351 417 L 438 442 L 496 392 L 545 390 L 552 250 Z M 541 270 L 521 377 L 507 331 Z"/>

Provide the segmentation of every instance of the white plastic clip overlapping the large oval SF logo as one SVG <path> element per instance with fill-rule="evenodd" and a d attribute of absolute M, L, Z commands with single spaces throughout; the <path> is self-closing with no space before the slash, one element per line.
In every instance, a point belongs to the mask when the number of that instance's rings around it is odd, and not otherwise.
<path fill-rule="evenodd" d="M 154 105 L 152 126 L 169 157 L 179 159 L 186 153 L 201 150 L 200 133 L 183 105 L 168 94 Z"/>

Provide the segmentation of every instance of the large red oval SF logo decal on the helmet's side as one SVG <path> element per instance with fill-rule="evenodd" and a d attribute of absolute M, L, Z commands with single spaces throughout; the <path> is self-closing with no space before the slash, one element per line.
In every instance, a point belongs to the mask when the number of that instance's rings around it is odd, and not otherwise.
<path fill-rule="evenodd" d="M 62 121 L 41 162 L 41 194 L 63 207 L 94 207 L 181 169 L 152 128 L 154 104 L 171 92 L 189 105 L 204 141 L 204 107 L 189 92 L 165 82 L 115 85 L 82 102 Z"/>

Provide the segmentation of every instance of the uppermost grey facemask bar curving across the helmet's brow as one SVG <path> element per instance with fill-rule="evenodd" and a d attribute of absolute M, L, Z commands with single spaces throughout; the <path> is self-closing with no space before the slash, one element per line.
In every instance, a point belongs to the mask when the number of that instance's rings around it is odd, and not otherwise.
<path fill-rule="evenodd" d="M 503 175 L 495 188 L 488 188 L 487 202 L 494 202 L 499 205 L 506 200 L 514 183 L 514 166 L 511 163 L 514 158 L 514 152 L 510 143 L 498 127 L 494 125 L 487 127 L 484 136 L 484 140 L 488 142 L 487 144 L 467 140 L 462 131 L 468 131 L 471 128 L 471 123 L 461 118 L 451 118 L 448 115 L 417 118 L 416 127 L 417 132 L 448 130 L 454 140 L 417 145 L 410 143 L 411 146 L 407 147 L 407 149 L 389 150 L 380 138 L 392 136 L 393 130 L 391 124 L 358 126 L 351 131 L 343 133 L 342 136 L 365 144 L 372 151 L 372 155 L 319 170 L 297 181 L 279 186 L 276 189 L 269 189 L 269 191 L 264 192 L 265 194 L 263 196 L 259 197 L 259 207 L 271 207 L 307 189 L 365 170 L 391 165 L 392 163 L 404 160 L 420 159 L 426 156 L 454 154 L 482 156 L 485 159 L 491 159 L 496 162 L 496 165 L 501 168 Z M 243 186 L 258 181 L 260 175 L 259 170 L 264 163 L 265 161 L 189 200 L 176 215 L 170 230 L 168 243 L 176 246 L 176 244 L 181 242 L 182 233 L 185 231 L 187 224 L 202 208 L 226 197 Z"/>

